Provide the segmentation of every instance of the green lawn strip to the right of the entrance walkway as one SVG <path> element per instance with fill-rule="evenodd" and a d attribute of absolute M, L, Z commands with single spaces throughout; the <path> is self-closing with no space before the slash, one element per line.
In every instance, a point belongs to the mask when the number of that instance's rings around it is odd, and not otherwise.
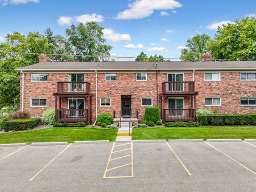
<path fill-rule="evenodd" d="M 133 129 L 132 139 L 255 139 L 256 126 L 157 127 Z"/>

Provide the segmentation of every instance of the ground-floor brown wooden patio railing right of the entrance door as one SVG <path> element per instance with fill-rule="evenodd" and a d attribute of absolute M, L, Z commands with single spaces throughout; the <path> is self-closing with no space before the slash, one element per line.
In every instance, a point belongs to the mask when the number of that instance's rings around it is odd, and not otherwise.
<path fill-rule="evenodd" d="M 164 109 L 164 121 L 196 121 L 196 109 Z"/>

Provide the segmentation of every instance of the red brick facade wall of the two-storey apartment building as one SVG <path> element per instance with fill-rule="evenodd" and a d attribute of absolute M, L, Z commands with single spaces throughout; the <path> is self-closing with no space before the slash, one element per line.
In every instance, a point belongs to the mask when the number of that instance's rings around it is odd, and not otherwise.
<path fill-rule="evenodd" d="M 185 81 L 192 81 L 192 73 L 184 73 Z M 53 93 L 57 92 L 57 82 L 68 81 L 67 73 L 49 73 L 47 82 L 31 82 L 31 74 L 25 73 L 24 110 L 29 111 L 31 117 L 41 115 L 44 110 L 54 108 Z M 21 74 L 22 79 L 22 74 Z M 95 120 L 95 73 L 85 73 L 85 81 L 91 83 L 92 119 Z M 153 106 L 157 106 L 158 93 L 162 92 L 162 82 L 167 81 L 167 73 L 147 73 L 146 82 L 137 82 L 135 73 L 117 73 L 116 82 L 106 82 L 105 73 L 98 73 L 98 114 L 110 113 L 114 110 L 121 111 L 121 95 L 131 95 L 132 110 L 139 110 L 139 119 L 143 118 L 145 107 L 141 107 L 141 98 L 153 98 Z M 22 81 L 20 81 L 22 85 Z M 21 86 L 20 85 L 20 86 Z M 241 97 L 256 97 L 256 81 L 240 81 L 240 73 L 221 73 L 221 81 L 206 82 L 204 73 L 195 73 L 195 91 L 197 96 L 197 108 L 205 108 L 205 97 L 221 97 L 222 106 L 217 108 L 218 113 L 252 113 L 255 107 L 240 106 Z M 22 89 L 20 89 L 22 90 Z M 20 94 L 21 95 L 21 94 Z M 111 107 L 100 107 L 100 98 L 111 98 Z M 30 107 L 30 98 L 47 98 L 47 107 Z M 167 108 L 167 99 L 164 102 Z M 20 100 L 21 106 L 21 100 Z M 67 108 L 67 99 L 62 99 L 62 109 Z M 185 97 L 185 108 L 191 107 L 191 100 Z M 211 107 L 212 108 L 212 107 Z M 213 109 L 213 108 L 212 108 Z"/>

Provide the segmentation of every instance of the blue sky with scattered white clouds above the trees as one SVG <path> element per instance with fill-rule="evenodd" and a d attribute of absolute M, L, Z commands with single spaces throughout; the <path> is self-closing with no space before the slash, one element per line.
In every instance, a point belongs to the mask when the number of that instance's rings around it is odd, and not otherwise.
<path fill-rule="evenodd" d="M 179 58 L 188 38 L 213 37 L 220 23 L 254 15 L 255 7 L 255 0 L 0 0 L 0 41 L 13 31 L 48 27 L 65 35 L 71 23 L 94 20 L 105 28 L 113 55 Z"/>

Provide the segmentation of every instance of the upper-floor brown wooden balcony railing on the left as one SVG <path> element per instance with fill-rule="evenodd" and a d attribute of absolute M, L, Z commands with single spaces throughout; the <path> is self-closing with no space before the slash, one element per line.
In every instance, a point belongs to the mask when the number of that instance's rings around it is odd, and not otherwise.
<path fill-rule="evenodd" d="M 58 82 L 58 94 L 87 94 L 90 93 L 91 85 L 88 82 Z"/>

